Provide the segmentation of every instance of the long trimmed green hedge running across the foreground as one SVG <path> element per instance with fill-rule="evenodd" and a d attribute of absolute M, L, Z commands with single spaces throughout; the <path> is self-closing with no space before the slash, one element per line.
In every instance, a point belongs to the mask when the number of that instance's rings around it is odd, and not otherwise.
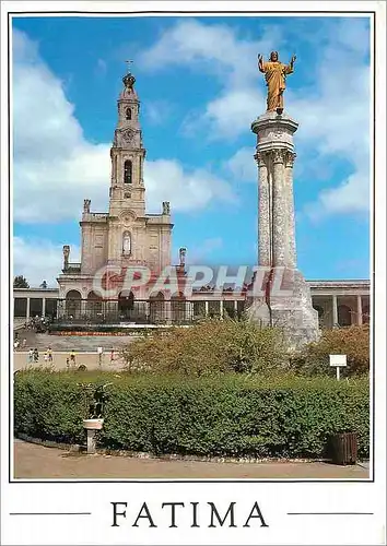
<path fill-rule="evenodd" d="M 187 379 L 96 372 L 19 372 L 15 434 L 84 442 L 78 382 L 113 381 L 101 446 L 228 456 L 320 458 L 329 435 L 357 432 L 368 456 L 368 382 L 222 376 Z"/>

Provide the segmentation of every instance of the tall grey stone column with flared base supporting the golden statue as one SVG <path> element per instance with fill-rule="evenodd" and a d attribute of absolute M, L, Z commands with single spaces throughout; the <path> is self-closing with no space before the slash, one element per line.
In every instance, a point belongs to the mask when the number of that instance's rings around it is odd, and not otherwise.
<path fill-rule="evenodd" d="M 266 295 L 256 297 L 248 312 L 251 320 L 282 328 L 293 348 L 319 335 L 310 289 L 296 265 L 293 134 L 297 127 L 285 112 L 266 112 L 251 124 L 257 134 L 258 265 L 268 274 Z"/>

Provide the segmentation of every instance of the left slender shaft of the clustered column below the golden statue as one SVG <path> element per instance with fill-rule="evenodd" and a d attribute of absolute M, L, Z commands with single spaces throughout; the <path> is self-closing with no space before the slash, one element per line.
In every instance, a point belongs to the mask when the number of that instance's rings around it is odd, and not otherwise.
<path fill-rule="evenodd" d="M 271 264 L 270 192 L 266 154 L 257 153 L 258 164 L 258 264 Z"/>

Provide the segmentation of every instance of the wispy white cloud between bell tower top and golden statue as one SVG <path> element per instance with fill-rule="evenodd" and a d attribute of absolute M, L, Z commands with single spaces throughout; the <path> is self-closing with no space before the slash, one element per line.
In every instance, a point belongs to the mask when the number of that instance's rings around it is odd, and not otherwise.
<path fill-rule="evenodd" d="M 230 26 L 180 20 L 140 56 L 141 68 L 156 71 L 168 64 L 184 64 L 214 74 L 223 86 L 221 95 L 199 116 L 189 116 L 189 133 L 207 128 L 209 138 L 233 139 L 246 131 L 265 103 L 265 90 L 257 85 L 257 52 L 282 44 L 279 31 L 267 26 L 259 39 L 239 38 Z M 187 132 L 187 131 L 186 131 Z"/>

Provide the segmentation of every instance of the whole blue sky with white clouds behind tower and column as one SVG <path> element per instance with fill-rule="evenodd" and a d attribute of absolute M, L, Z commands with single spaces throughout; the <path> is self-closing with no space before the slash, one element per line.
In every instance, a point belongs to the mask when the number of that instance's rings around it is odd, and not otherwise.
<path fill-rule="evenodd" d="M 295 73 L 298 266 L 307 278 L 367 278 L 370 24 L 340 17 L 15 17 L 14 274 L 55 286 L 61 247 L 79 258 L 83 199 L 106 211 L 125 59 L 133 59 L 148 150 L 149 212 L 171 201 L 173 261 L 253 264 L 266 109 L 257 54 Z"/>

